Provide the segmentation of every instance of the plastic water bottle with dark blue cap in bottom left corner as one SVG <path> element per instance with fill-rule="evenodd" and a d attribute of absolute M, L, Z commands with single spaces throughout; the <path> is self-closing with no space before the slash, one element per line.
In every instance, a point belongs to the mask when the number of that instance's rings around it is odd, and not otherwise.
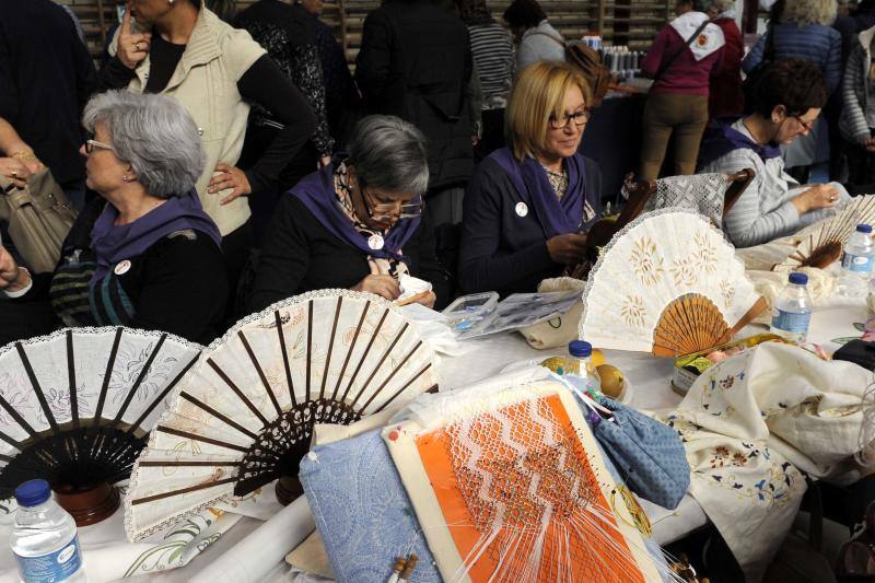
<path fill-rule="evenodd" d="M 24 583 L 82 583 L 82 551 L 75 522 L 51 498 L 46 480 L 15 489 L 19 510 L 10 544 Z"/>

